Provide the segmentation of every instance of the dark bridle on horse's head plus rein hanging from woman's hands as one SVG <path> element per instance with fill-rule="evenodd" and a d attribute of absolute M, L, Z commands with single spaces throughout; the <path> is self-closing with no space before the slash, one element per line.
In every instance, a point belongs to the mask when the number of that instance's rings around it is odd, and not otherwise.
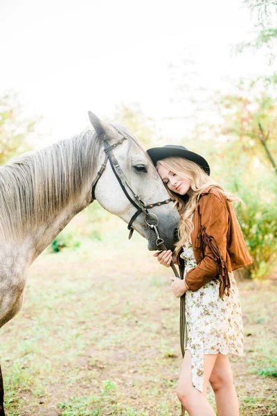
<path fill-rule="evenodd" d="M 114 175 L 116 176 L 116 179 L 118 180 L 118 183 L 120 184 L 121 189 L 125 193 L 126 198 L 129 200 L 129 202 L 134 205 L 136 208 L 135 214 L 132 216 L 132 218 L 129 220 L 129 224 L 127 225 L 127 228 L 129 229 L 129 239 L 132 238 L 134 228 L 132 227 L 132 223 L 134 220 L 141 214 L 144 214 L 144 221 L 145 224 L 152 229 L 157 236 L 156 244 L 159 247 L 160 250 L 167 250 L 166 245 L 164 244 L 163 239 L 159 236 L 158 231 L 158 225 L 159 225 L 159 218 L 156 214 L 153 214 L 152 212 L 148 212 L 148 209 L 151 209 L 153 207 L 160 207 L 161 205 L 168 204 L 172 201 L 172 198 L 168 198 L 161 202 L 154 202 L 149 205 L 145 205 L 143 200 L 136 195 L 136 193 L 133 191 L 131 185 L 129 184 L 127 177 L 125 176 L 125 173 L 123 173 L 122 169 L 120 168 L 120 165 L 118 164 L 118 161 L 116 157 L 114 156 L 114 153 L 112 150 L 116 148 L 116 146 L 123 143 L 123 141 L 126 140 L 126 137 L 123 137 L 123 139 L 118 140 L 117 143 L 112 144 L 109 146 L 109 143 L 107 140 L 104 140 L 104 150 L 105 150 L 105 160 L 102 163 L 96 178 L 93 180 L 91 185 L 91 198 L 92 200 L 96 200 L 95 196 L 95 190 L 96 185 L 98 183 L 98 180 L 100 179 L 102 173 L 105 171 L 105 168 L 107 166 L 107 161 L 109 160 L 109 164 L 111 165 L 111 169 L 114 172 Z M 129 195 L 129 192 L 127 191 L 127 188 L 132 193 L 132 196 L 134 199 L 131 198 Z M 177 272 L 177 269 L 175 265 L 171 262 L 170 267 L 172 268 L 172 271 L 174 272 L 176 277 L 179 277 L 179 279 L 184 279 L 184 271 L 185 271 L 185 263 L 183 259 L 179 259 L 179 273 Z M 181 345 L 181 354 L 184 357 L 185 355 L 185 348 L 184 348 L 184 341 L 185 341 L 185 335 L 186 335 L 186 342 L 187 342 L 187 331 L 186 331 L 186 317 L 185 317 L 185 306 L 186 306 L 186 293 L 184 293 L 183 296 L 180 297 L 180 345 Z M 183 411 L 184 409 L 182 409 Z"/>

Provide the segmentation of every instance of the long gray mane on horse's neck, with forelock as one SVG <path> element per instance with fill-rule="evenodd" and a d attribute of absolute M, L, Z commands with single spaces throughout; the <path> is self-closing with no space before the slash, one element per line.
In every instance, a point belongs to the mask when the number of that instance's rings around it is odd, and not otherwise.
<path fill-rule="evenodd" d="M 141 148 L 129 130 L 113 127 Z M 84 184 L 96 175 L 102 140 L 93 130 L 58 141 L 42 150 L 11 159 L 0 167 L 0 234 L 7 239 L 55 218 L 71 201 L 78 200 Z M 142 148 L 141 148 L 142 149 Z M 142 149 L 143 150 L 143 149 Z"/>

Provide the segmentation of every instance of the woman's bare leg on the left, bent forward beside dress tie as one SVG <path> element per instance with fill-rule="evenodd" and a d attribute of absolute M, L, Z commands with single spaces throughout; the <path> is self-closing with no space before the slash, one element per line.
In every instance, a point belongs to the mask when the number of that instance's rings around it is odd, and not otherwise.
<path fill-rule="evenodd" d="M 190 416 L 215 416 L 215 412 L 206 399 L 208 379 L 210 379 L 217 354 L 204 355 L 204 392 L 193 387 L 191 376 L 191 353 L 186 349 L 181 374 L 177 385 L 177 397 Z"/>

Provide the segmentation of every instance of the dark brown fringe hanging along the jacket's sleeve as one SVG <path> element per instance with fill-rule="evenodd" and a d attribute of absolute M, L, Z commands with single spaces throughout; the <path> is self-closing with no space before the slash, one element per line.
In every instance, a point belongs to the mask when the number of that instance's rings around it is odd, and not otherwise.
<path fill-rule="evenodd" d="M 213 236 L 209 236 L 206 233 L 206 228 L 202 225 L 202 241 L 205 245 L 208 245 L 211 252 L 217 259 L 217 265 L 218 265 L 218 271 L 219 271 L 219 277 L 220 277 L 220 298 L 223 300 L 223 296 L 230 294 L 230 278 L 229 278 L 229 272 L 226 266 L 226 261 L 222 257 L 222 254 L 220 252 L 220 249 L 218 248 L 218 245 L 215 241 L 215 238 Z"/>

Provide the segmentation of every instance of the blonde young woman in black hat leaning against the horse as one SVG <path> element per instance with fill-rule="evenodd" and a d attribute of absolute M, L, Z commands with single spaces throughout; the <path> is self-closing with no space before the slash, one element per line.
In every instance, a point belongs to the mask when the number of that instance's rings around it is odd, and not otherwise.
<path fill-rule="evenodd" d="M 238 416 L 229 354 L 243 354 L 242 313 L 232 270 L 251 264 L 231 202 L 240 200 L 215 183 L 204 157 L 184 146 L 148 154 L 180 214 L 175 257 L 186 263 L 184 280 L 171 277 L 176 297 L 186 293 L 188 341 L 177 397 L 190 416 L 215 416 L 206 399 L 210 381 L 218 416 Z M 170 250 L 155 253 L 170 267 Z"/>

